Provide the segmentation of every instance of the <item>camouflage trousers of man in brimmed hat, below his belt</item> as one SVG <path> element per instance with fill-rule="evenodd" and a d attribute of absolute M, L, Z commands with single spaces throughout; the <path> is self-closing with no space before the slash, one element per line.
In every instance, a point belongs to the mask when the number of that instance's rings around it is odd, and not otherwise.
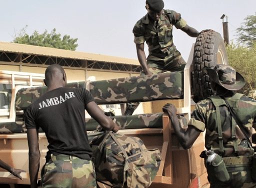
<path fill-rule="evenodd" d="M 256 181 L 251 179 L 251 165 L 239 164 L 239 165 L 227 165 L 227 171 L 230 179 L 225 182 L 210 182 L 210 188 L 252 188 L 256 187 Z"/>

